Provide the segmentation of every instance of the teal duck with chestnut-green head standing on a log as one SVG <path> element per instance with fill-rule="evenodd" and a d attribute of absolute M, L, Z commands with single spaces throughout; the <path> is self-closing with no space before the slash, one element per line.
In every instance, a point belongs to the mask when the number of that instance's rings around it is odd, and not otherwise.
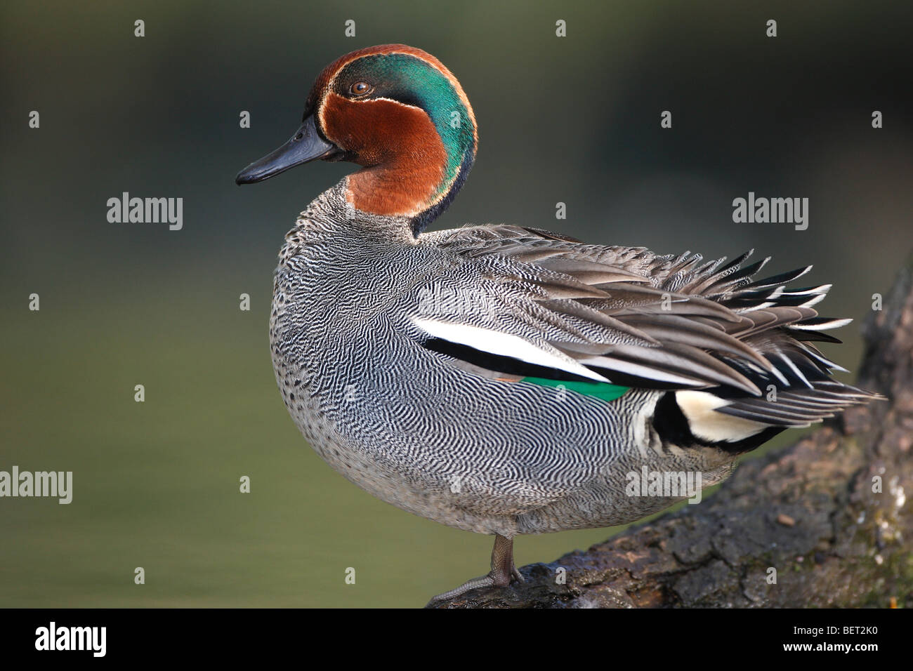
<path fill-rule="evenodd" d="M 782 431 L 878 397 L 834 379 L 812 267 L 587 244 L 514 225 L 429 232 L 476 159 L 467 94 L 416 47 L 362 48 L 314 81 L 297 131 L 236 183 L 359 166 L 278 255 L 269 343 L 310 446 L 373 496 L 494 536 L 490 571 L 431 603 L 522 582 L 521 534 L 642 519 Z M 650 488 L 644 488 L 650 489 Z"/>

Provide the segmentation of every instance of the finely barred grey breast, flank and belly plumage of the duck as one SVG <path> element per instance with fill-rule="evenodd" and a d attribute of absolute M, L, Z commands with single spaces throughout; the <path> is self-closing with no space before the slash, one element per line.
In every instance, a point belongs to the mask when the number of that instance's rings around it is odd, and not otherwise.
<path fill-rule="evenodd" d="M 624 495 L 624 474 L 645 464 L 728 471 L 719 450 L 663 445 L 647 423 L 657 392 L 606 404 L 465 372 L 426 350 L 410 320 L 422 289 L 471 278 L 478 262 L 435 236 L 383 239 L 385 223 L 347 216 L 340 186 L 301 214 L 280 254 L 270 328 L 289 412 L 345 477 L 423 517 L 512 537 L 666 508 Z"/>

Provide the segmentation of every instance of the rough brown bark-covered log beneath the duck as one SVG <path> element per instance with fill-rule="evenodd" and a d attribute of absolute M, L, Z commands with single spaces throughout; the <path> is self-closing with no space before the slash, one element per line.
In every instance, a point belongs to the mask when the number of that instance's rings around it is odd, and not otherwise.
<path fill-rule="evenodd" d="M 436 607 L 913 607 L 913 257 L 864 334 L 858 386 L 887 401 L 741 464 L 698 506 Z"/>

